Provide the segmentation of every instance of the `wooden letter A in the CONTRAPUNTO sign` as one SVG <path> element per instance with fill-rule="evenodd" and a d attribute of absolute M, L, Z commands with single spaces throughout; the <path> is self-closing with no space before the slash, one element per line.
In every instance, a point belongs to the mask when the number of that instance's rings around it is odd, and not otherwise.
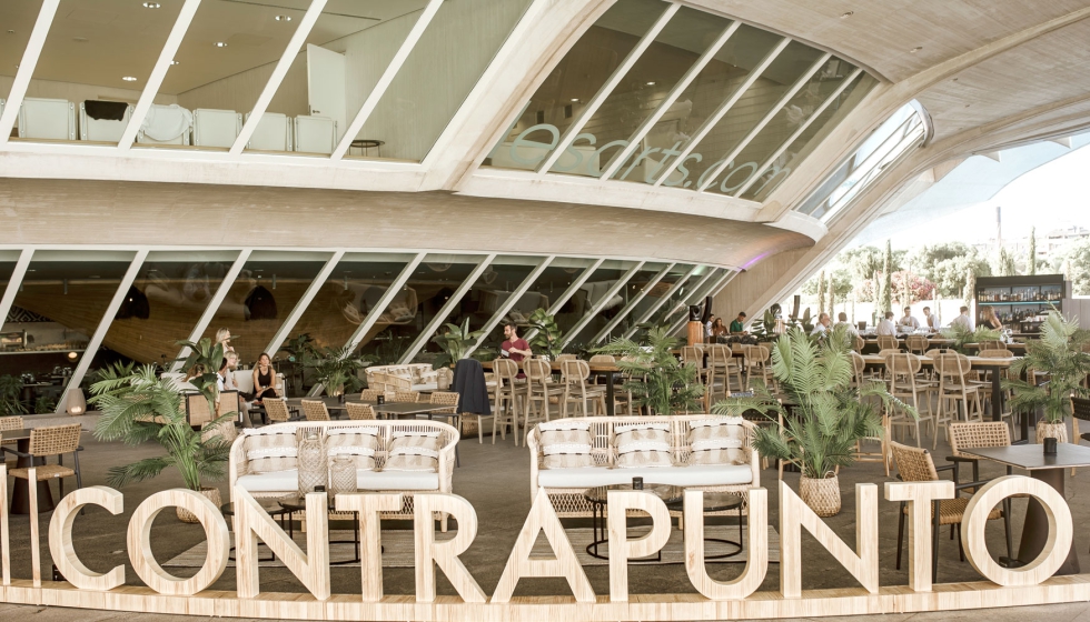
<path fill-rule="evenodd" d="M 556 559 L 529 559 L 529 552 L 541 531 L 545 531 L 545 539 L 548 540 Z M 518 540 L 511 551 L 507 566 L 499 578 L 499 585 L 496 586 L 496 593 L 492 595 L 492 602 L 511 602 L 515 585 L 523 576 L 563 576 L 567 579 L 567 584 L 571 585 L 577 602 L 595 602 L 594 589 L 591 588 L 591 582 L 587 581 L 586 573 L 583 572 L 583 566 L 575 556 L 572 542 L 567 539 L 561 520 L 556 518 L 556 511 L 544 488 L 537 489 L 534 506 L 531 508 L 529 516 L 526 518 L 526 523 L 518 533 Z"/>

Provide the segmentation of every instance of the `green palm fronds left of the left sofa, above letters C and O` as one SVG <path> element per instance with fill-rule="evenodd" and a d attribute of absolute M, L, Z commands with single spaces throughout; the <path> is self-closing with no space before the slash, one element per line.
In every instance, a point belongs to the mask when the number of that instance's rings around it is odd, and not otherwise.
<path fill-rule="evenodd" d="M 122 488 L 155 478 L 168 466 L 178 470 L 190 490 L 199 491 L 202 482 L 221 479 L 226 474 L 230 444 L 219 434 L 201 439 L 201 432 L 186 420 L 181 394 L 169 379 L 156 377 L 153 365 L 143 365 L 129 374 L 122 371 L 123 368 L 115 368 L 91 385 L 90 402 L 102 413 L 95 425 L 95 438 L 130 445 L 156 441 L 167 454 L 111 466 L 107 483 Z M 234 419 L 235 413 L 225 414 L 205 429 L 231 425 Z"/>

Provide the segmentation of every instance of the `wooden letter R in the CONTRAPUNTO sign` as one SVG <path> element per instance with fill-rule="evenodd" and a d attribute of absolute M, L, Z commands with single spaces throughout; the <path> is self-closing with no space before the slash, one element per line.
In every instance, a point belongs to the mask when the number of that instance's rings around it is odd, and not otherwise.
<path fill-rule="evenodd" d="M 435 601 L 435 566 L 450 580 L 465 602 L 485 602 L 484 591 L 458 559 L 477 535 L 477 512 L 457 494 L 417 494 L 413 499 L 413 528 L 416 542 L 416 601 Z M 458 533 L 435 542 L 434 512 L 446 512 L 458 521 Z"/>

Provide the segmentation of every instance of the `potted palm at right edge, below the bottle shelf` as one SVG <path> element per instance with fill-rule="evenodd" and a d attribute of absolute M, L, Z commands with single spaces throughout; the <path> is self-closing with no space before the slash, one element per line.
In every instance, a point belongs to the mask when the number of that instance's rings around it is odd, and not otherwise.
<path fill-rule="evenodd" d="M 1067 320 L 1052 309 L 1041 324 L 1040 339 L 1025 344 L 1025 357 L 1011 364 L 1012 374 L 1029 370 L 1049 374 L 1044 384 L 1025 380 L 1004 380 L 1003 388 L 1012 389 L 1012 411 L 1043 410 L 1044 420 L 1037 423 L 1037 442 L 1047 438 L 1068 442 L 1064 418 L 1071 412 L 1071 395 L 1086 397 L 1082 379 L 1090 373 L 1090 331 L 1080 329 L 1078 320 Z"/>

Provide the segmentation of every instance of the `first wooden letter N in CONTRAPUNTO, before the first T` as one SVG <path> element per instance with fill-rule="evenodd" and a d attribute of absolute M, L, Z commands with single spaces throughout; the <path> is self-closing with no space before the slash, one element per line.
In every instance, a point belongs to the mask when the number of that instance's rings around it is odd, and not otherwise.
<path fill-rule="evenodd" d="M 307 494 L 307 552 L 304 553 L 250 493 L 235 486 L 235 559 L 238 598 L 261 593 L 257 541 L 276 553 L 284 565 L 319 601 L 329 599 L 329 506 L 326 493 Z"/>

